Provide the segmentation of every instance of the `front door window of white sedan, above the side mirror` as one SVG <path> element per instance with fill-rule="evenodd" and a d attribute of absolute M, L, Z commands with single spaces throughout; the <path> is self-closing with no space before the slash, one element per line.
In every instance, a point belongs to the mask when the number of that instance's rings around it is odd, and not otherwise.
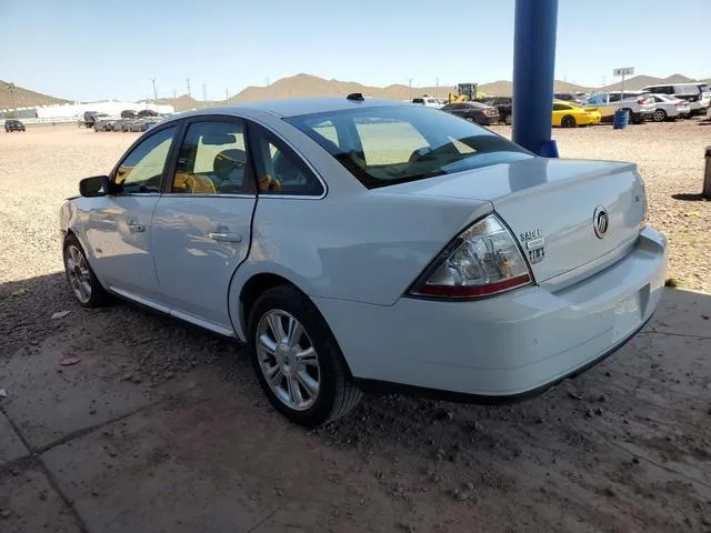
<path fill-rule="evenodd" d="M 118 193 L 160 192 L 174 133 L 174 125 L 160 130 L 142 141 L 121 161 L 113 177 L 113 185 Z"/>

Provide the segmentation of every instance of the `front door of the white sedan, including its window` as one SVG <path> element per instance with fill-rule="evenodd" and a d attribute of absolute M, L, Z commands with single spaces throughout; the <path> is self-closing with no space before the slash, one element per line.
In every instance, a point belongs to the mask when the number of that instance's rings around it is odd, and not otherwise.
<path fill-rule="evenodd" d="M 137 144 L 111 175 L 110 194 L 88 213 L 86 237 L 98 278 L 113 292 L 154 306 L 160 290 L 151 250 L 151 217 L 160 199 L 177 125 Z"/>

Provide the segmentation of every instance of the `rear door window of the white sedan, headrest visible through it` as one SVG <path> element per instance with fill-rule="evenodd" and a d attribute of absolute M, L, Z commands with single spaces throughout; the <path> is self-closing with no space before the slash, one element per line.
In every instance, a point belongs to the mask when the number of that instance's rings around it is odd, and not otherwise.
<path fill-rule="evenodd" d="M 180 145 L 170 192 L 241 194 L 253 191 L 243 124 L 220 121 L 191 123 Z"/>

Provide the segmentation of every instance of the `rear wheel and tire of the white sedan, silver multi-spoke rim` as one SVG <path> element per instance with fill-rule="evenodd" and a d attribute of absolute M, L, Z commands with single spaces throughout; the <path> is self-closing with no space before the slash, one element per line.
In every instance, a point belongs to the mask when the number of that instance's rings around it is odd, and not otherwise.
<path fill-rule="evenodd" d="M 302 333 L 289 343 L 287 332 L 292 320 Z M 340 419 L 360 401 L 362 393 L 353 383 L 331 329 L 297 288 L 279 285 L 257 300 L 249 315 L 248 339 L 259 384 L 274 409 L 291 422 L 316 428 Z M 298 353 L 303 354 L 300 363 Z M 276 378 L 274 385 L 267 374 Z"/>

